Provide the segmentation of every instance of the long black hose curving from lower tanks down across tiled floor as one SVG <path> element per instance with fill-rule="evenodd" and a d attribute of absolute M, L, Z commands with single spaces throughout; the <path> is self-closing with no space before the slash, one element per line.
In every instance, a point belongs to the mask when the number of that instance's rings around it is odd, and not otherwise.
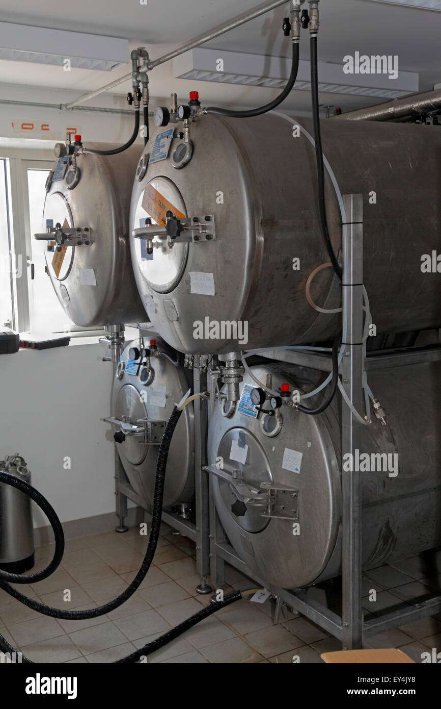
<path fill-rule="evenodd" d="M 144 581 L 144 578 L 147 575 L 147 571 L 149 571 L 151 562 L 153 561 L 154 553 L 156 551 L 156 545 L 159 539 L 159 530 L 161 527 L 162 501 L 164 497 L 164 482 L 168 459 L 168 450 L 170 448 L 173 431 L 176 428 L 176 424 L 178 423 L 181 414 L 182 410 L 178 409 L 177 406 L 175 406 L 173 408 L 173 411 L 171 412 L 170 418 L 168 419 L 164 434 L 162 436 L 161 445 L 159 446 L 158 461 L 156 463 L 154 501 L 153 510 L 151 513 L 149 543 L 147 545 L 147 551 L 145 553 L 144 560 L 142 562 L 141 568 L 139 569 L 137 575 L 134 577 L 132 583 L 130 584 L 130 586 L 127 586 L 125 591 L 123 591 L 120 596 L 114 598 L 113 601 L 109 601 L 109 603 L 105 603 L 105 605 L 99 606 L 99 608 L 91 608 L 90 610 L 61 610 L 60 608 L 52 608 L 50 605 L 45 605 L 45 603 L 38 603 L 38 601 L 34 601 L 33 598 L 28 598 L 28 596 L 24 596 L 23 593 L 20 593 L 20 591 L 8 584 L 7 581 L 3 580 L 6 574 L 5 571 L 0 571 L 0 588 L 3 588 L 6 593 L 9 593 L 11 596 L 13 596 L 13 598 L 16 598 L 17 601 L 21 601 L 21 603 L 27 605 L 28 608 L 33 608 L 33 610 L 37 610 L 38 613 L 42 613 L 42 615 L 50 615 L 52 618 L 63 618 L 64 620 L 85 620 L 87 618 L 98 618 L 98 616 L 100 615 L 105 615 L 105 613 L 110 613 L 111 610 L 119 608 L 122 603 L 125 603 L 125 601 L 127 601 L 131 596 L 133 596 L 134 592 L 137 591 L 137 588 L 139 588 L 139 586 L 142 584 L 142 581 Z M 15 476 L 8 475 L 7 477 L 15 479 Z M 11 483 L 11 480 L 6 479 L 4 481 L 6 482 L 6 484 L 13 484 Z M 35 493 L 37 493 L 38 491 L 36 491 L 33 487 L 31 487 L 27 483 L 24 483 L 23 481 L 21 481 L 21 483 L 23 484 L 23 486 L 26 486 L 26 489 L 23 488 L 23 491 L 25 491 L 32 499 L 35 499 Z M 13 485 L 15 486 L 15 484 Z M 37 500 L 35 499 L 35 501 Z M 49 505 L 49 503 L 47 503 L 47 505 Z M 60 523 L 59 525 L 61 527 Z M 55 532 L 55 527 L 53 528 Z M 58 533 L 59 530 L 57 528 L 57 534 Z M 29 576 L 24 576 L 23 578 L 26 579 L 27 582 L 29 582 Z"/>

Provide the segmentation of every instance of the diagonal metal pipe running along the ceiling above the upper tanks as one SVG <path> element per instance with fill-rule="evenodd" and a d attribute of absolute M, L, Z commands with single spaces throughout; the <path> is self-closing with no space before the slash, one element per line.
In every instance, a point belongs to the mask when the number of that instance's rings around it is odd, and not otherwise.
<path fill-rule="evenodd" d="M 154 67 L 158 67 L 160 64 L 164 64 L 164 62 L 168 62 L 169 60 L 174 59 L 174 57 L 178 57 L 184 52 L 188 52 L 190 49 L 199 47 L 205 42 L 219 37 L 219 35 L 223 35 L 224 33 L 229 32 L 229 30 L 234 30 L 236 27 L 244 25 L 246 22 L 254 20 L 256 19 L 256 17 L 260 17 L 260 15 L 264 15 L 265 12 L 275 10 L 277 7 L 280 7 L 280 5 L 285 5 L 286 3 L 287 0 L 272 0 L 271 2 L 263 2 L 253 10 L 248 10 L 244 13 L 241 13 L 241 15 L 237 15 L 233 19 L 222 23 L 221 25 L 217 25 L 217 27 L 214 27 L 209 32 L 197 35 L 197 37 L 195 37 L 193 40 L 185 42 L 183 45 L 180 45 L 172 52 L 168 52 L 167 54 L 164 54 L 162 57 L 159 57 L 158 59 L 155 59 L 153 61 L 150 60 L 149 62 L 147 62 L 146 65 L 140 68 L 140 71 L 148 72 L 150 69 L 154 69 Z M 123 77 L 115 79 L 115 81 L 110 82 L 110 84 L 105 84 L 105 86 L 101 86 L 101 89 L 96 89 L 96 91 L 89 91 L 88 94 L 81 94 L 78 99 L 74 99 L 74 101 L 69 101 L 67 104 L 64 104 L 64 108 L 72 108 L 77 104 L 83 104 L 84 101 L 89 101 L 90 99 L 93 99 L 95 96 L 99 96 L 99 94 L 103 94 L 109 89 L 114 89 L 115 86 L 119 86 L 119 84 L 123 84 L 124 82 L 129 81 L 129 79 L 132 79 L 132 72 L 130 72 L 130 74 L 124 74 Z"/>

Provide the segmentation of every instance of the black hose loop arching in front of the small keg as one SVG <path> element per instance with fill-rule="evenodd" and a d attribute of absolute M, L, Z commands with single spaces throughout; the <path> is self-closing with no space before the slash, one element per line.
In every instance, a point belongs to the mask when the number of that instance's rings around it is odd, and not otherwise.
<path fill-rule="evenodd" d="M 35 584 L 37 581 L 47 579 L 47 576 L 53 574 L 62 560 L 64 554 L 64 532 L 62 523 L 59 521 L 58 515 L 52 505 L 47 502 L 47 499 L 43 497 L 42 494 L 38 492 L 38 490 L 35 490 L 33 486 L 29 485 L 24 480 L 21 480 L 15 475 L 0 471 L 0 483 L 11 485 L 17 490 L 23 492 L 25 495 L 28 495 L 31 500 L 38 504 L 40 510 L 45 513 L 47 519 L 50 521 L 52 530 L 54 530 L 55 552 L 52 561 L 45 567 L 45 569 L 42 569 L 42 571 L 38 571 L 36 574 L 27 575 L 11 574 L 8 571 L 3 571 L 2 569 L 0 569 L 1 581 L 10 581 L 11 584 Z"/>

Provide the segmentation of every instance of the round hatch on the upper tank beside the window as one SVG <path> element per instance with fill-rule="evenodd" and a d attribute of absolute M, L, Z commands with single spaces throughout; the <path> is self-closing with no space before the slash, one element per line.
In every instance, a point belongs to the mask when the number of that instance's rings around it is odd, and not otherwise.
<path fill-rule="evenodd" d="M 62 227 L 74 227 L 74 219 L 72 218 L 69 203 L 61 192 L 53 192 L 46 197 L 42 231 L 45 232 L 47 226 L 55 226 L 57 223 L 61 224 Z M 52 242 L 52 244 L 54 243 Z M 62 246 L 62 250 L 57 251 L 56 247 L 52 246 L 52 250 L 49 251 L 50 245 L 50 241 L 42 242 L 47 270 L 52 277 L 58 281 L 63 281 L 69 275 L 74 262 L 75 247 Z"/>

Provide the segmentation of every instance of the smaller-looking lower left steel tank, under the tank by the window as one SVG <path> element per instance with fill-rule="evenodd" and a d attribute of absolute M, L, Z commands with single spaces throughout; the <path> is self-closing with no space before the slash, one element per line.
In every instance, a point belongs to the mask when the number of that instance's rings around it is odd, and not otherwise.
<path fill-rule="evenodd" d="M 148 345 L 147 345 L 148 347 Z M 132 352 L 130 352 L 132 350 Z M 139 352 L 139 340 L 129 342 L 122 352 L 113 381 L 112 416 L 125 419 L 126 424 L 139 425 L 140 419 L 167 422 L 173 406 L 188 390 L 185 372 L 180 364 L 172 364 L 158 340 L 157 348 L 149 348 L 150 374 L 147 359 Z M 136 359 L 131 359 L 130 354 Z M 164 507 L 188 505 L 195 490 L 193 408 L 185 406 L 176 425 L 168 452 Z M 115 425 L 115 432 L 120 430 Z M 122 430 L 126 430 L 124 426 Z M 117 436 L 118 440 L 118 436 Z M 158 443 L 161 442 L 161 433 Z M 126 435 L 117 442 L 118 454 L 135 493 L 142 498 L 144 508 L 153 504 L 156 461 L 159 445 L 146 445 L 143 435 Z"/>

